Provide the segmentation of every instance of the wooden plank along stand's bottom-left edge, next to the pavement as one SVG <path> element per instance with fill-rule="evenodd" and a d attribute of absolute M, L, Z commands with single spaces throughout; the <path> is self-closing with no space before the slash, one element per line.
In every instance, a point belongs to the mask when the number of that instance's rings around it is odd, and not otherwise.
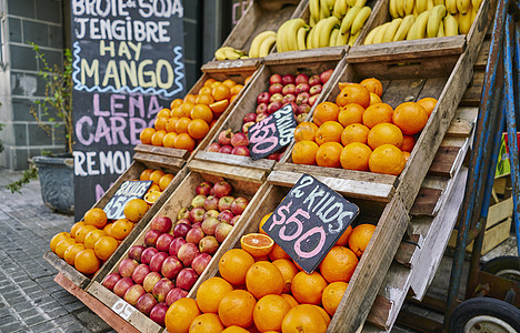
<path fill-rule="evenodd" d="M 79 289 L 63 274 L 58 273 L 58 275 L 56 275 L 54 278 L 54 282 L 61 285 L 69 293 L 74 295 L 78 300 L 80 300 L 84 305 L 92 310 L 97 315 L 99 315 L 106 323 L 108 323 L 112 329 L 114 329 L 119 333 L 139 333 L 139 331 L 132 327 L 126 320 L 117 315 L 112 310 L 104 306 L 103 303 Z"/>

